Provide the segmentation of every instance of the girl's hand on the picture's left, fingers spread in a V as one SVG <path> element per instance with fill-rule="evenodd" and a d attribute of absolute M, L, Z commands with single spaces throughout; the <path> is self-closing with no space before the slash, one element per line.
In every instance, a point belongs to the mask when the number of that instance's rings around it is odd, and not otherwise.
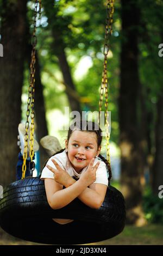
<path fill-rule="evenodd" d="M 49 170 L 51 170 L 51 172 L 53 172 L 55 175 L 54 175 L 54 180 L 56 182 L 58 182 L 59 184 L 63 185 L 63 186 L 66 186 L 67 182 L 69 179 L 71 179 L 71 176 L 64 170 L 62 169 L 59 164 L 54 160 L 52 159 L 52 162 L 54 163 L 55 167 L 57 168 L 57 170 L 55 170 L 53 167 L 51 166 L 47 166 L 47 168 Z"/>

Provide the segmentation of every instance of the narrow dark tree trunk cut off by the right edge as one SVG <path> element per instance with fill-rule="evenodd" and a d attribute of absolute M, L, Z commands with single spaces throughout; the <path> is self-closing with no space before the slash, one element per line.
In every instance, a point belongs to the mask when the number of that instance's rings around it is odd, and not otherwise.
<path fill-rule="evenodd" d="M 158 105 L 158 117 L 156 121 L 155 129 L 155 144 L 156 152 L 153 165 L 153 179 L 152 179 L 152 188 L 153 192 L 158 195 L 158 188 L 160 185 L 163 185 L 163 94 L 160 96 Z"/>

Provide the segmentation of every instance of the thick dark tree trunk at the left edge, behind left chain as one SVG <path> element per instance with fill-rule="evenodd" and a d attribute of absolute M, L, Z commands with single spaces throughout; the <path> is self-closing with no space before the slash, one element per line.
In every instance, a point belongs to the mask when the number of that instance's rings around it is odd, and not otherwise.
<path fill-rule="evenodd" d="M 21 121 L 24 36 L 27 1 L 3 0 L 1 35 L 3 57 L 0 58 L 0 184 L 16 178 L 17 127 Z"/>

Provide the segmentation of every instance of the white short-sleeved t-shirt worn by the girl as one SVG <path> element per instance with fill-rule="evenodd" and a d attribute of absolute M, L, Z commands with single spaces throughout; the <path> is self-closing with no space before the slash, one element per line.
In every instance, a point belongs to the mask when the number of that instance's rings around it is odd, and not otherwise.
<path fill-rule="evenodd" d="M 64 170 L 66 170 L 66 172 L 70 175 L 70 176 L 75 176 L 76 178 L 80 178 L 80 176 L 82 175 L 82 173 L 86 172 L 88 166 L 84 167 L 82 172 L 77 173 L 76 170 L 72 167 L 70 160 L 68 159 L 68 156 L 66 154 L 66 151 L 64 150 L 62 153 L 59 153 L 57 155 L 52 156 L 47 164 L 51 167 L 53 167 L 54 169 L 56 169 L 54 163 L 52 162 L 52 159 L 54 159 L 61 168 L 63 168 Z M 93 183 L 100 183 L 100 184 L 104 184 L 108 186 L 108 173 L 107 173 L 107 169 L 106 169 L 106 164 L 101 160 L 101 158 L 96 157 L 95 161 L 93 163 L 93 166 L 95 166 L 95 164 L 97 162 L 100 161 L 100 164 L 98 166 L 98 169 L 96 171 L 96 180 Z M 51 170 L 49 170 L 46 166 L 43 168 L 42 170 L 42 174 L 41 174 L 41 178 L 40 179 L 54 179 L 54 173 L 51 172 Z"/>

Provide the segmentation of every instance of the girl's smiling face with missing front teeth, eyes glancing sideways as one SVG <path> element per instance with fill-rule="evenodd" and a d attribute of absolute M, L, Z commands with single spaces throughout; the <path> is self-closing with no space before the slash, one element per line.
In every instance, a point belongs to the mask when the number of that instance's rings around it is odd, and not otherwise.
<path fill-rule="evenodd" d="M 87 131 L 73 131 L 68 145 L 66 139 L 65 148 L 68 150 L 68 159 L 78 173 L 101 151 L 101 146 L 97 148 L 96 133 Z"/>

